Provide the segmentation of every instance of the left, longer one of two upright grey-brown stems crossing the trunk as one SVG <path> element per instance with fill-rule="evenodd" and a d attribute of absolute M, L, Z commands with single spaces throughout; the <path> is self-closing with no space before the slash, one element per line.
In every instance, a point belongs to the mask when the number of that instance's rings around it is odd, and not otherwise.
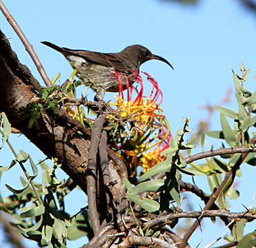
<path fill-rule="evenodd" d="M 99 146 L 99 137 L 101 136 L 101 130 L 104 125 L 105 118 L 103 115 L 99 115 L 95 120 L 95 126 L 92 129 L 92 136 L 90 139 L 90 149 L 88 152 L 88 170 L 87 170 L 87 195 L 88 195 L 88 211 L 90 216 L 90 222 L 92 223 L 92 229 L 96 235 L 99 231 L 99 216 L 96 203 L 96 182 L 97 182 L 97 152 Z"/>

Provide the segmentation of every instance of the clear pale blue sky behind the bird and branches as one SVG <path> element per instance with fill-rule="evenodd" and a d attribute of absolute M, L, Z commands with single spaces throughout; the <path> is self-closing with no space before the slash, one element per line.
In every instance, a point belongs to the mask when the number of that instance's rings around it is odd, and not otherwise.
<path fill-rule="evenodd" d="M 242 8 L 238 1 L 201 1 L 197 6 L 181 6 L 178 3 L 166 3 L 157 0 L 130 1 L 4 1 L 13 17 L 19 23 L 26 37 L 33 45 L 43 66 L 52 79 L 61 72 L 59 83 L 63 83 L 72 68 L 64 57 L 54 50 L 42 45 L 40 41 L 50 41 L 60 46 L 73 49 L 85 49 L 101 52 L 119 52 L 127 45 L 145 45 L 153 54 L 163 56 L 173 64 L 175 71 L 161 61 L 148 61 L 141 70 L 148 72 L 157 79 L 164 92 L 161 107 L 170 122 L 175 134 L 182 125 L 182 117 L 191 118 L 190 127 L 196 129 L 199 120 L 206 118 L 207 112 L 199 105 L 215 104 L 224 96 L 226 90 L 233 87 L 233 68 L 239 73 L 242 61 L 252 72 L 246 82 L 248 90 L 255 90 L 255 40 L 256 19 L 253 14 Z M 12 48 L 21 61 L 30 68 L 32 74 L 40 81 L 41 78 L 23 48 L 21 41 L 12 28 L 0 14 L 1 30 L 10 39 Z M 89 92 L 89 97 L 94 93 Z M 107 94 L 106 99 L 112 99 L 114 94 Z M 237 110 L 234 92 L 231 102 L 225 107 Z M 220 128 L 219 113 L 213 115 L 211 130 Z M 33 154 L 35 161 L 44 158 L 34 145 L 23 136 L 12 135 L 11 141 L 19 151 L 23 149 Z M 213 141 L 206 141 L 210 147 Z M 220 143 L 215 143 L 216 148 Z M 7 147 L 0 151 L 1 165 L 7 165 L 12 156 Z M 253 197 L 255 187 L 253 167 L 243 165 L 242 171 L 246 180 L 243 185 L 238 183 L 242 198 L 232 201 L 232 209 L 243 211 L 242 203 L 248 206 Z M 60 173 L 60 176 L 64 174 Z M 3 175 L 1 185 L 7 181 L 20 187 L 13 171 Z M 186 178 L 188 179 L 188 178 Z M 189 179 L 188 179 L 189 180 Z M 199 185 L 208 191 L 206 180 L 201 179 Z M 209 192 L 209 191 L 208 191 Z M 9 194 L 1 187 L 3 196 Z M 243 194 L 244 193 L 244 194 Z M 86 205 L 83 194 L 79 190 L 68 196 L 75 206 L 68 205 L 72 213 Z M 195 209 L 199 209 L 199 200 Z M 197 231 L 191 239 L 191 244 L 197 244 L 201 238 L 200 247 L 224 234 L 224 229 L 209 231 L 211 225 L 204 221 L 203 234 Z M 250 225 L 252 230 L 252 225 Z M 213 229 L 211 229 L 213 230 Z M 1 240 L 1 235 L 0 235 Z M 84 240 L 69 242 L 68 247 L 83 245 Z M 0 245 L 1 241 L 0 241 Z M 30 245 L 33 247 L 33 245 Z"/>

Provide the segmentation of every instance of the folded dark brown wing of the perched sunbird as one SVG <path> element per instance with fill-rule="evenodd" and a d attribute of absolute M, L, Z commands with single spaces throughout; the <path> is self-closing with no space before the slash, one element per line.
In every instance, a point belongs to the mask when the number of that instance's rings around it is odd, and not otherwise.
<path fill-rule="evenodd" d="M 115 53 L 90 52 L 86 50 L 70 50 L 64 48 L 69 54 L 80 56 L 86 61 L 113 68 L 118 72 L 131 72 L 131 68 Z"/>

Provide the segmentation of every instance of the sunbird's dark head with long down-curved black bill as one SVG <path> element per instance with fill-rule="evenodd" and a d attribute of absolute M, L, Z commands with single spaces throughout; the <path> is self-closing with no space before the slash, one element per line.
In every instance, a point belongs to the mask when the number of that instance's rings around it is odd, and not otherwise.
<path fill-rule="evenodd" d="M 161 56 L 152 54 L 152 52 L 150 52 L 150 50 L 148 50 L 148 48 L 145 48 L 143 45 L 129 45 L 123 51 L 126 51 L 130 54 L 136 54 L 135 56 L 137 56 L 137 58 L 139 59 L 139 65 L 151 59 L 157 59 L 159 61 L 167 63 L 171 68 L 173 68 L 173 65 L 171 65 L 166 59 L 162 58 Z"/>

